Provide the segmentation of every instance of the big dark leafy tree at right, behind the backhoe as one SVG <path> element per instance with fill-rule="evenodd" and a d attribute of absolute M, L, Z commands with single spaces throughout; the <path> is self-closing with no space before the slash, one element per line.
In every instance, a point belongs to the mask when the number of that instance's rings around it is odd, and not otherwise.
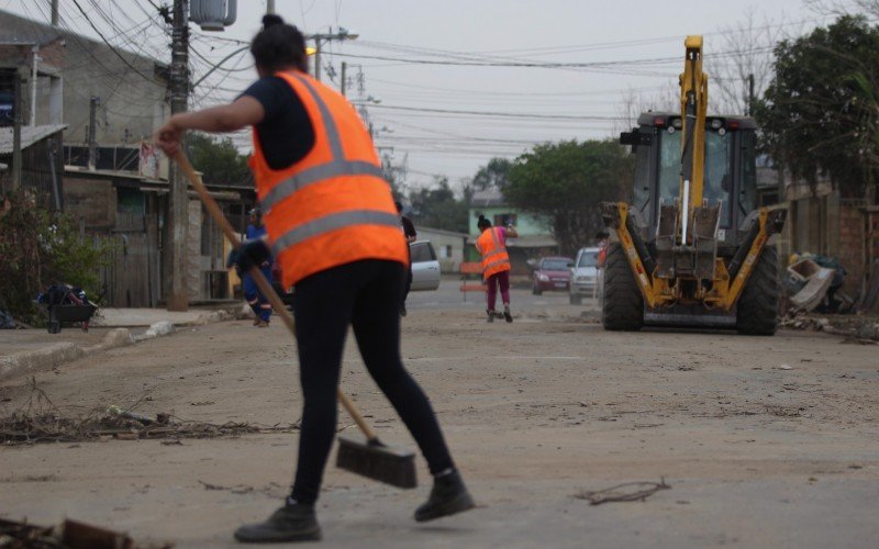
<path fill-rule="evenodd" d="M 877 180 L 879 29 L 844 15 L 776 47 L 776 76 L 757 117 L 776 164 L 814 187 L 827 176 L 844 197 Z"/>

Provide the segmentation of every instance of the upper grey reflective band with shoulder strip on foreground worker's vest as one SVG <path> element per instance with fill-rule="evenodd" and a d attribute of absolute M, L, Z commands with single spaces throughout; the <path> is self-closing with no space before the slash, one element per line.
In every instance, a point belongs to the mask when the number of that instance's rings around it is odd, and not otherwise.
<path fill-rule="evenodd" d="M 321 117 L 323 119 L 324 131 L 326 132 L 326 141 L 330 144 L 330 153 L 333 159 L 329 163 L 305 169 L 302 172 L 297 173 L 296 176 L 288 178 L 272 187 L 271 190 L 259 200 L 259 205 L 263 206 L 263 210 L 268 212 L 271 210 L 271 206 L 288 198 L 299 189 L 319 181 L 323 181 L 324 179 L 331 179 L 340 176 L 375 176 L 385 179 L 385 173 L 380 166 L 360 160 L 352 161 L 345 159 L 345 155 L 342 152 L 342 138 L 338 135 L 338 128 L 336 127 L 336 122 L 333 120 L 333 115 L 330 112 L 330 108 L 326 107 L 326 103 L 318 94 L 318 91 L 314 89 L 311 82 L 299 75 L 290 76 L 299 80 L 305 87 L 311 98 L 318 104 L 318 110 L 321 112 Z"/>

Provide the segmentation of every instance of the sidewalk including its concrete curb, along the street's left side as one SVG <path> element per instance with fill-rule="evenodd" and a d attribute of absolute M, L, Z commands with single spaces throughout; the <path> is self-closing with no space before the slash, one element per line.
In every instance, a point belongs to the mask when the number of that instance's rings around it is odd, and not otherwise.
<path fill-rule="evenodd" d="M 48 370 L 64 362 L 123 345 L 235 317 L 241 304 L 204 306 L 187 312 L 163 309 L 110 309 L 96 313 L 88 332 L 65 326 L 60 334 L 45 328 L 0 330 L 0 380 Z"/>

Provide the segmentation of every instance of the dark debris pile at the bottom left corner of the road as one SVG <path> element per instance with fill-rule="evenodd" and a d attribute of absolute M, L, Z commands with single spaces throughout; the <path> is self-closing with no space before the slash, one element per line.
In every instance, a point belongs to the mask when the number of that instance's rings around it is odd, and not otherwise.
<path fill-rule="evenodd" d="M 36 526 L 0 518 L 0 547 L 92 549 L 171 549 L 173 544 L 136 544 L 127 534 L 67 519 L 59 526 Z"/>

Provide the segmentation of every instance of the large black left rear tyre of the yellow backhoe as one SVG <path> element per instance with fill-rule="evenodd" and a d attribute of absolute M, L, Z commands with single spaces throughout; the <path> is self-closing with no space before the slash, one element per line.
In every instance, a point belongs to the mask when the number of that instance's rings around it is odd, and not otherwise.
<path fill-rule="evenodd" d="M 604 300 L 601 306 L 604 329 L 638 330 L 644 326 L 644 298 L 619 243 L 608 246 L 604 264 Z"/>

